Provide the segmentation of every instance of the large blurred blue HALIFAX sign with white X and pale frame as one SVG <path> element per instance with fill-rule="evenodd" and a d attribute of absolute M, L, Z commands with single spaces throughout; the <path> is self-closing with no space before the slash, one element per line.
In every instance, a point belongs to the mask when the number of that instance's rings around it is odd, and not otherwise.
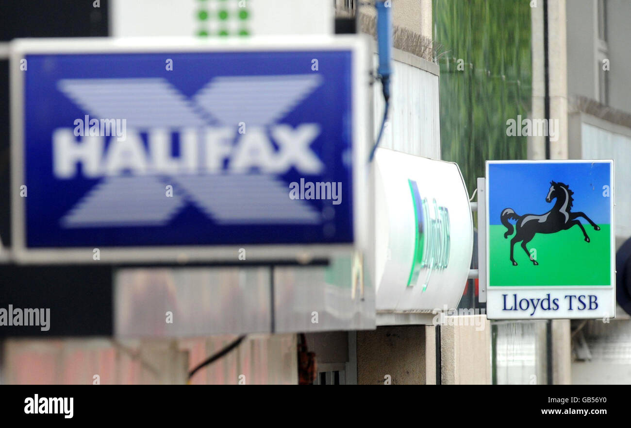
<path fill-rule="evenodd" d="M 211 46 L 13 45 L 22 261 L 355 244 L 360 45 Z"/>

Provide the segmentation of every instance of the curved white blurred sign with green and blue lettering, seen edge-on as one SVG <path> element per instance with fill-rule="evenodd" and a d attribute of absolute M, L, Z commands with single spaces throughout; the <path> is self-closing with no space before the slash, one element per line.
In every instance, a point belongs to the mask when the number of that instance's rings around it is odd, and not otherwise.
<path fill-rule="evenodd" d="M 377 311 L 456 307 L 473 252 L 457 164 L 384 148 L 375 163 Z"/>

